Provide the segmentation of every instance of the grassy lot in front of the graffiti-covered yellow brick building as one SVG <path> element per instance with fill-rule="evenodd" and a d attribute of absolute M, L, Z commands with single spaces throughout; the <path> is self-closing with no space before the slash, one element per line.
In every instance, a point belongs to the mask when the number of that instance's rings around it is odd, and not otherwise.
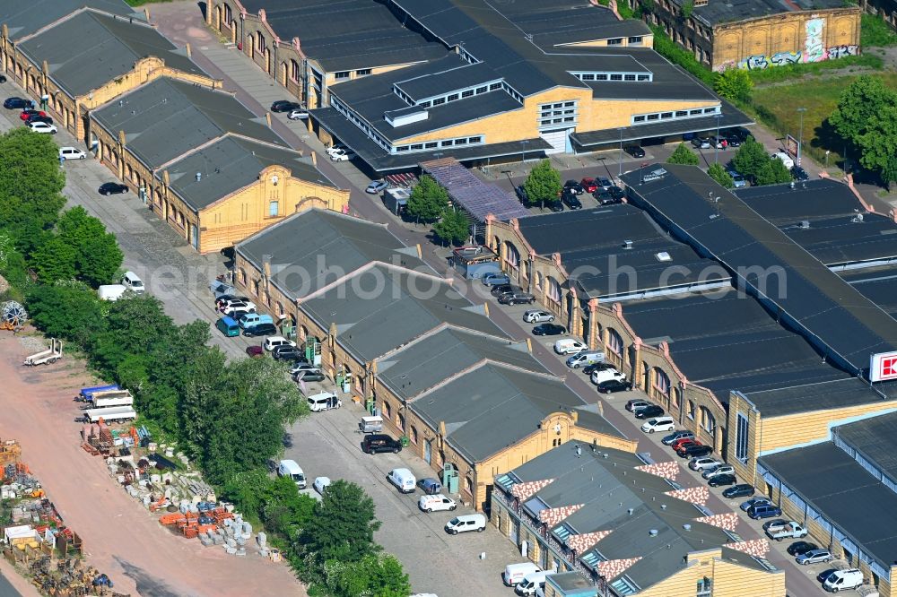
<path fill-rule="evenodd" d="M 772 85 L 754 89 L 753 116 L 764 125 L 780 134 L 792 134 L 797 138 L 800 128 L 800 114 L 796 108 L 806 108 L 804 113 L 804 151 L 820 164 L 825 163 L 825 151 L 832 151 L 829 165 L 840 163 L 844 144 L 840 138 L 823 127 L 838 105 L 841 91 L 847 89 L 858 75 L 834 78 L 804 78 L 792 84 Z M 897 73 L 885 71 L 875 74 L 884 79 L 886 85 L 897 88 Z M 856 160 L 856 156 L 849 156 Z"/>

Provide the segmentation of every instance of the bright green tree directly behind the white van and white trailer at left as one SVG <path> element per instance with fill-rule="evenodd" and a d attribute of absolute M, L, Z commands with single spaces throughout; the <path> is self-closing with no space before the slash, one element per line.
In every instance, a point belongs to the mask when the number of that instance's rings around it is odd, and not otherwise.
<path fill-rule="evenodd" d="M 96 288 L 107 283 L 121 267 L 124 254 L 115 235 L 80 205 L 63 212 L 57 222 L 59 237 L 74 247 L 78 277 Z"/>

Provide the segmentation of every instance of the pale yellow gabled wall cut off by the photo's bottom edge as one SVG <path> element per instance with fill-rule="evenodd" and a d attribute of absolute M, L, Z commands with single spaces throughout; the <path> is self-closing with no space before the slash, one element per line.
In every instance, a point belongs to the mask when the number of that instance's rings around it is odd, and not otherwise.
<path fill-rule="evenodd" d="M 693 595 L 698 581 L 713 581 L 713 597 L 785 597 L 785 572 L 767 572 L 722 559 L 721 549 L 688 555 L 688 567 L 645 589 L 643 597 Z"/>

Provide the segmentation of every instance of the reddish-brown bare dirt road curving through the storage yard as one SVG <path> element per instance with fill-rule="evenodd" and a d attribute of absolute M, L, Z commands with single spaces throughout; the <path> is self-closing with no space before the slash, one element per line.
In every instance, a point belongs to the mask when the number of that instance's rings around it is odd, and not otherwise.
<path fill-rule="evenodd" d="M 23 459 L 65 523 L 84 541 L 89 562 L 118 593 L 144 597 L 301 595 L 288 567 L 256 553 L 245 558 L 172 536 L 80 446 L 78 389 L 95 380 L 75 359 L 25 368 L 22 338 L 0 332 L 0 437 L 22 444 Z M 33 342 L 33 339 L 28 339 Z"/>

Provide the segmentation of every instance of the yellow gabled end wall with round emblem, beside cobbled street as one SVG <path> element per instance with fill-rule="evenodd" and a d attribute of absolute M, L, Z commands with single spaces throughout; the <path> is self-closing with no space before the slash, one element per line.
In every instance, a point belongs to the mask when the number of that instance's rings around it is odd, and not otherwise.
<path fill-rule="evenodd" d="M 271 183 L 272 176 L 278 177 L 276 186 Z M 276 216 L 270 215 L 273 201 L 277 202 Z M 312 207 L 342 212 L 348 204 L 348 190 L 309 183 L 290 176 L 288 169 L 272 166 L 263 171 L 256 183 L 199 213 L 199 252 L 231 247 L 296 212 Z"/>

